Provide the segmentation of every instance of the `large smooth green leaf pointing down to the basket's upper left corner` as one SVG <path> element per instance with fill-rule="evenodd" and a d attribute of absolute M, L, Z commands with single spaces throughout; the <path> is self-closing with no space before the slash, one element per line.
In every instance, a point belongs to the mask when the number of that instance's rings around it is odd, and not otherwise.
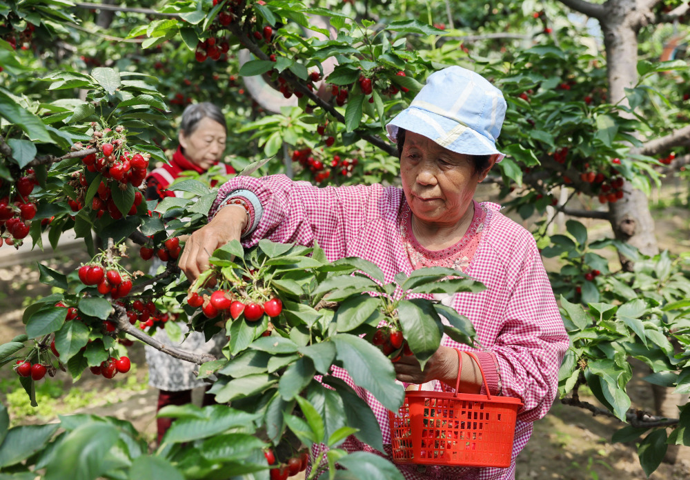
<path fill-rule="evenodd" d="M 342 361 L 355 384 L 371 392 L 388 410 L 400 408 L 405 392 L 395 383 L 393 364 L 381 350 L 347 333 L 331 338 L 337 350 L 336 358 Z"/>

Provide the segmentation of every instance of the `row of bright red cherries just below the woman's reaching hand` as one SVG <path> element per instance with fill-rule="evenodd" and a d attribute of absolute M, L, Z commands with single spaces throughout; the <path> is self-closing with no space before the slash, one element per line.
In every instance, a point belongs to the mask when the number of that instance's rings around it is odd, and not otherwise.
<path fill-rule="evenodd" d="M 243 315 L 246 321 L 255 322 L 259 321 L 264 314 L 273 318 L 283 311 L 283 303 L 278 297 L 273 297 L 263 303 L 252 299 L 240 301 L 230 290 L 215 290 L 210 295 L 191 292 L 187 296 L 187 303 L 193 308 L 201 307 L 201 311 L 210 319 L 228 312 L 233 320 Z"/>

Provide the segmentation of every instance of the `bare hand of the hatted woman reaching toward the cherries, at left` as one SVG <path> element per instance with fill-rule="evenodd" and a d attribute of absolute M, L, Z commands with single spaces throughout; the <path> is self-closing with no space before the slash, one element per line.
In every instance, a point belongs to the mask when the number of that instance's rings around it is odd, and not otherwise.
<path fill-rule="evenodd" d="M 217 248 L 228 241 L 238 240 L 247 224 L 247 214 L 240 205 L 228 205 L 218 211 L 208 225 L 191 234 L 177 265 L 190 282 L 208 270 L 208 259 Z"/>

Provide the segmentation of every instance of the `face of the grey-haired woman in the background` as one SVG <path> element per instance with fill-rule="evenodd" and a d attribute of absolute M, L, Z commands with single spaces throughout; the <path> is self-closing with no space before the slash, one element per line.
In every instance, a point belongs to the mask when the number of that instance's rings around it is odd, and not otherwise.
<path fill-rule="evenodd" d="M 188 136 L 179 132 L 178 138 L 186 159 L 204 170 L 219 161 L 225 151 L 225 128 L 208 117 L 201 119 Z"/>

